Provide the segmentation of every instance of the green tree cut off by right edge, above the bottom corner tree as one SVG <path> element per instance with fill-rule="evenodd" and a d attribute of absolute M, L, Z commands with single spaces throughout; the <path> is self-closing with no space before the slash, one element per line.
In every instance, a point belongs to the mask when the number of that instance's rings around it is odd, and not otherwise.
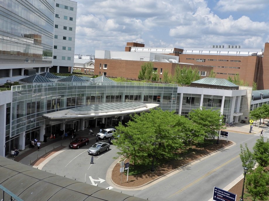
<path fill-rule="evenodd" d="M 269 165 L 269 139 L 264 142 L 263 137 L 258 139 L 253 147 L 254 158 L 262 167 Z"/>

